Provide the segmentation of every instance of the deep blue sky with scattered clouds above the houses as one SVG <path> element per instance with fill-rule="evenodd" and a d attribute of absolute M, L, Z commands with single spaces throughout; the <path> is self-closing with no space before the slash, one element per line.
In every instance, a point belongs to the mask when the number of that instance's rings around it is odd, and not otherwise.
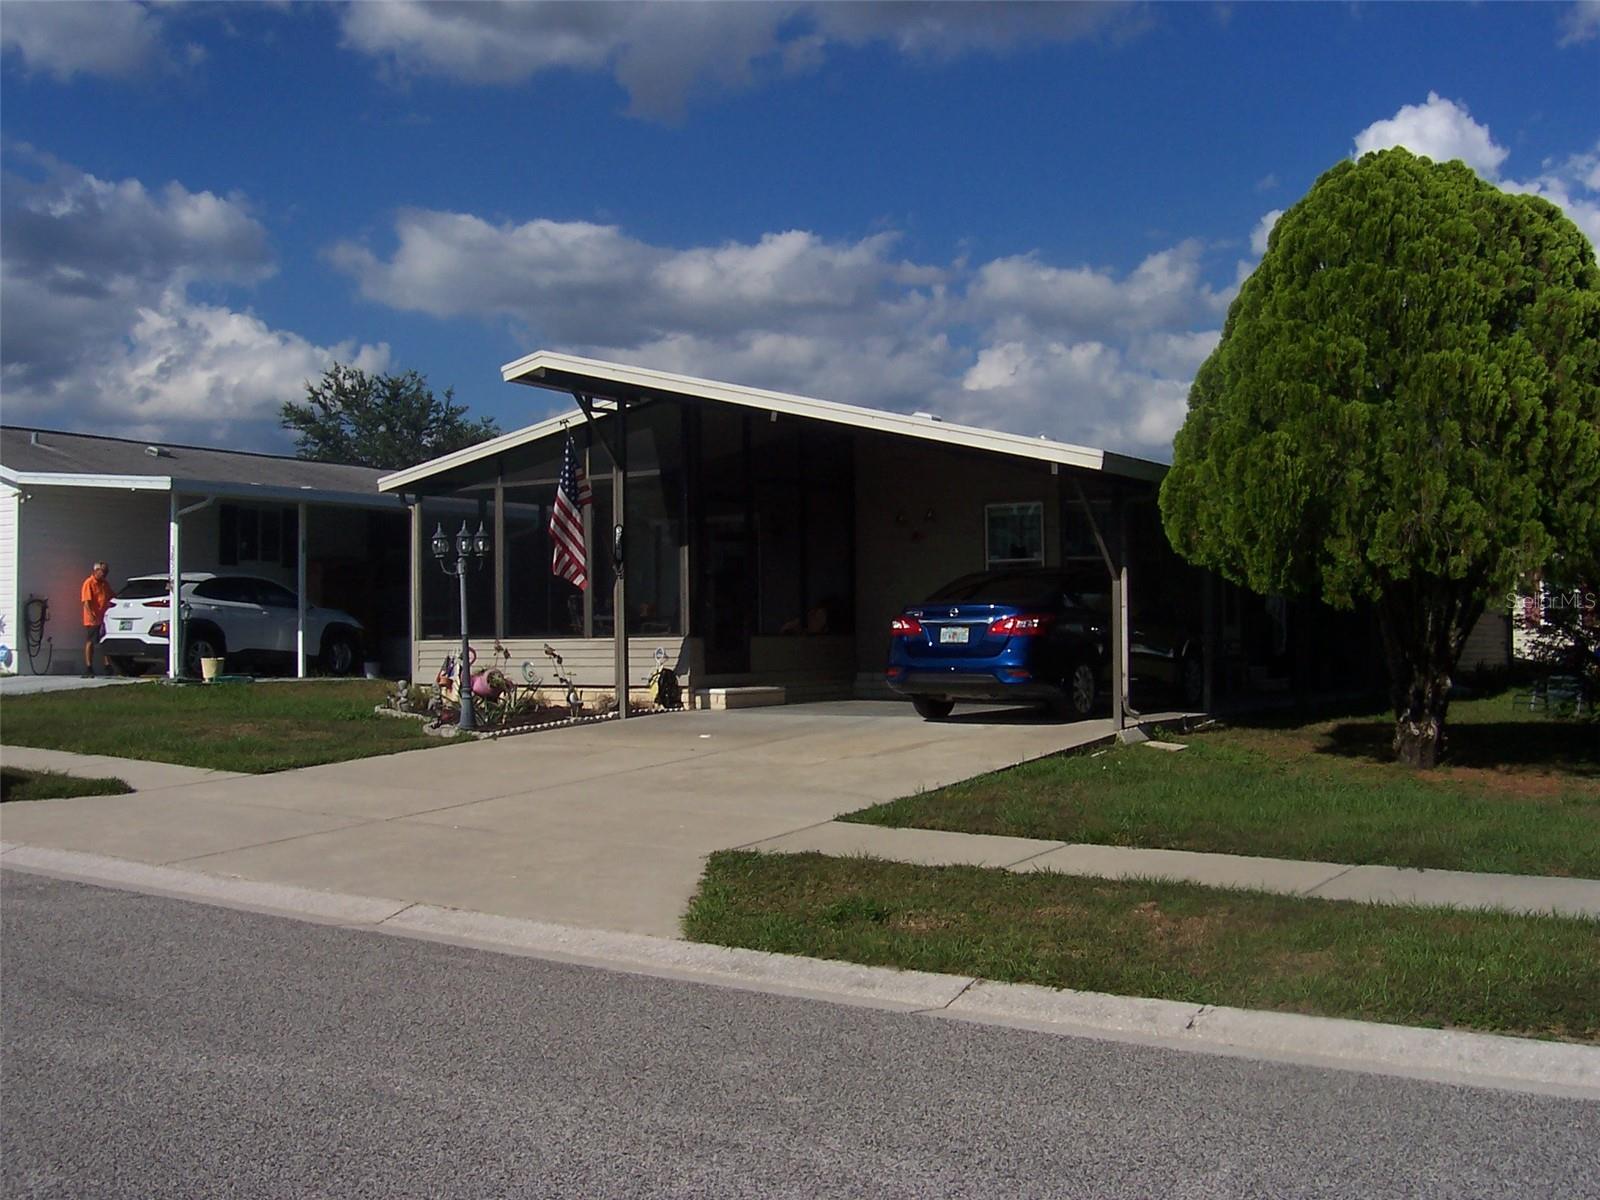
<path fill-rule="evenodd" d="M 1405 144 L 1600 242 L 1600 3 L 0 3 L 5 419 L 286 450 L 557 349 L 1166 459 L 1272 219 Z"/>

